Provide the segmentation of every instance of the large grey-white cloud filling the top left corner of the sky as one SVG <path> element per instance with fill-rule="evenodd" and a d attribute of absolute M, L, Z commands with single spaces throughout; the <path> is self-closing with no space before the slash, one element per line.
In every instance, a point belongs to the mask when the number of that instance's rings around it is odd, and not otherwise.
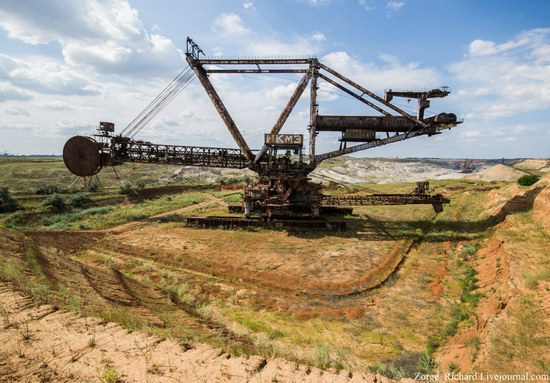
<path fill-rule="evenodd" d="M 158 75 L 183 61 L 168 38 L 145 29 L 127 0 L 4 1 L 0 27 L 28 44 L 58 42 L 67 63 L 100 73 Z"/>

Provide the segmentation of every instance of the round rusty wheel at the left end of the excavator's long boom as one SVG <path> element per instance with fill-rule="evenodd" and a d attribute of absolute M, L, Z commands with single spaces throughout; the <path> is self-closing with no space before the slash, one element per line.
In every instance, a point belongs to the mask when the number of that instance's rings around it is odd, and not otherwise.
<path fill-rule="evenodd" d="M 63 162 L 71 173 L 91 177 L 102 167 L 100 148 L 90 137 L 72 137 L 63 147 Z"/>

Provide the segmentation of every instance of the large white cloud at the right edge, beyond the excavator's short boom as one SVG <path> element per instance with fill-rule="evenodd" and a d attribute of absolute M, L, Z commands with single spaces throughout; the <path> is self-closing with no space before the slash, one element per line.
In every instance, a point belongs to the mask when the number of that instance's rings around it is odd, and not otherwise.
<path fill-rule="evenodd" d="M 449 68 L 460 84 L 457 101 L 485 121 L 549 109 L 548 46 L 550 28 L 502 44 L 474 40 L 468 55 Z"/>

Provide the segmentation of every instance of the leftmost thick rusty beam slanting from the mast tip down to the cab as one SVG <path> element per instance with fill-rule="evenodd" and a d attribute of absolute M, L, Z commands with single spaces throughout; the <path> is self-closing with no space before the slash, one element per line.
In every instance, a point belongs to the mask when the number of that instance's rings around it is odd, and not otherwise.
<path fill-rule="evenodd" d="M 214 104 L 214 107 L 218 111 L 220 117 L 222 118 L 223 122 L 225 123 L 225 126 L 227 126 L 227 129 L 229 130 L 229 133 L 233 136 L 233 139 L 239 146 L 239 149 L 241 149 L 243 155 L 246 157 L 248 161 L 252 161 L 254 158 L 254 155 L 252 154 L 252 151 L 248 147 L 248 144 L 244 140 L 241 132 L 237 128 L 237 125 L 235 124 L 235 121 L 233 121 L 233 118 L 227 111 L 227 108 L 225 107 L 224 103 L 222 102 L 220 96 L 214 89 L 214 86 L 210 82 L 210 79 L 208 78 L 208 75 L 206 74 L 206 71 L 202 67 L 202 65 L 198 64 L 197 61 L 190 55 L 187 54 L 187 63 L 193 70 L 195 71 L 195 74 L 197 75 L 199 81 L 201 82 L 202 86 L 204 87 L 204 90 L 206 91 L 206 94 L 210 97 L 212 100 L 212 103 Z"/>

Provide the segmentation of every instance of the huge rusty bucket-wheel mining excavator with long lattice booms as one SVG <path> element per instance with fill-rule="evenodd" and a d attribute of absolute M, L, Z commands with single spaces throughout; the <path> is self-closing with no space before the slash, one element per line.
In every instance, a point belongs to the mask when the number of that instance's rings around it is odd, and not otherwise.
<path fill-rule="evenodd" d="M 446 87 L 426 91 L 387 90 L 380 97 L 315 57 L 294 58 L 209 58 L 191 39 L 187 39 L 183 70 L 119 135 L 114 124 L 100 122 L 96 134 L 70 138 L 63 148 L 67 168 L 77 176 L 92 177 L 105 166 L 125 162 L 174 164 L 184 166 L 248 168 L 258 174 L 257 180 L 245 187 L 242 205 L 230 206 L 231 212 L 242 212 L 246 218 L 189 217 L 189 225 L 201 227 L 305 227 L 344 229 L 343 219 L 327 219 L 351 213 L 358 205 L 429 204 L 436 212 L 449 200 L 431 194 L 427 183 L 419 183 L 410 194 L 371 194 L 362 196 L 324 196 L 321 185 L 308 175 L 319 164 L 334 158 L 419 136 L 440 134 L 461 121 L 453 113 L 425 117 L 431 98 L 447 96 Z M 265 134 L 264 145 L 251 150 L 222 102 L 209 76 L 224 74 L 302 74 L 296 89 L 279 118 Z M 212 100 L 222 121 L 238 148 L 215 148 L 161 145 L 135 140 L 134 136 L 164 108 L 196 76 Z M 374 109 L 378 115 L 335 116 L 319 114 L 317 92 L 325 81 L 348 97 Z M 309 84 L 310 119 L 307 127 L 309 152 L 304 153 L 303 134 L 280 134 L 287 118 Z M 418 100 L 417 115 L 391 103 L 394 97 Z M 316 152 L 320 133 L 339 132 L 339 148 L 326 153 Z"/>

